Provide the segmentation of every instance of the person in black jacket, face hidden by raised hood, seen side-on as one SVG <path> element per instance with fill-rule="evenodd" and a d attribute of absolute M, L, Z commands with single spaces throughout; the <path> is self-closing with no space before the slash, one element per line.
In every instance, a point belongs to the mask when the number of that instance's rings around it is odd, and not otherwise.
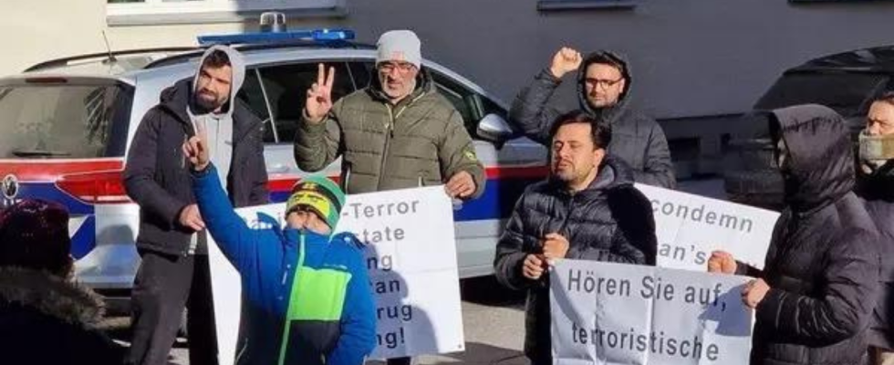
<path fill-rule="evenodd" d="M 768 115 L 786 208 L 763 271 L 715 251 L 708 271 L 757 277 L 752 364 L 859 364 L 878 286 L 878 231 L 852 190 L 854 154 L 844 120 L 819 105 Z"/>

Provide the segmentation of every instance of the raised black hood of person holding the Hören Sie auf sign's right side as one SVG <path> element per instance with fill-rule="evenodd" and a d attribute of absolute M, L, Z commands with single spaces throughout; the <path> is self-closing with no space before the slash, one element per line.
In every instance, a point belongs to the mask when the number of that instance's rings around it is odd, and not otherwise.
<path fill-rule="evenodd" d="M 793 211 L 816 211 L 853 190 L 854 151 L 845 120 L 835 110 L 811 104 L 772 114 L 770 130 L 778 130 L 774 139 L 781 137 L 788 146 L 785 203 Z"/>

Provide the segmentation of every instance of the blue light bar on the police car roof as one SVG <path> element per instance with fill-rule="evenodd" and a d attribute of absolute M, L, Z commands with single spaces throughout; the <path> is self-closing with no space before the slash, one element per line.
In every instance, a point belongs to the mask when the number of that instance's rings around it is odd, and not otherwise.
<path fill-rule="evenodd" d="M 300 40 L 313 42 L 331 42 L 354 39 L 354 31 L 350 29 L 313 29 L 290 32 L 257 32 L 220 36 L 198 36 L 199 46 L 212 45 L 257 45 L 271 43 L 287 43 Z"/>

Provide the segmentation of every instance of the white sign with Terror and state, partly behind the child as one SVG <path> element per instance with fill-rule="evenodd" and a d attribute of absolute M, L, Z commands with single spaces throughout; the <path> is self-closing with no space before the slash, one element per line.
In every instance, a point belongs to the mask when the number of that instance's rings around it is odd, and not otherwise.
<path fill-rule="evenodd" d="M 378 359 L 462 351 L 463 314 L 452 203 L 443 186 L 348 195 L 336 232 L 367 243 L 364 261 L 376 301 Z M 285 203 L 236 210 L 252 227 L 257 214 L 285 224 Z M 260 227 L 269 228 L 269 227 Z M 234 360 L 241 280 L 209 240 L 219 358 Z"/>

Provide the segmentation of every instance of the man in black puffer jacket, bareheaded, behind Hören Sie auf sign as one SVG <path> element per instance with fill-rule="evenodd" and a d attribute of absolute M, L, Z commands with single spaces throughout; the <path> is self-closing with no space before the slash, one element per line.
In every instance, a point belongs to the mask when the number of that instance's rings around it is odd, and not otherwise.
<path fill-rule="evenodd" d="M 582 111 L 553 123 L 551 176 L 530 186 L 496 248 L 494 271 L 505 287 L 527 290 L 525 355 L 552 364 L 549 277 L 563 257 L 655 265 L 652 209 L 633 187 L 633 172 L 606 157 L 611 132 Z"/>

